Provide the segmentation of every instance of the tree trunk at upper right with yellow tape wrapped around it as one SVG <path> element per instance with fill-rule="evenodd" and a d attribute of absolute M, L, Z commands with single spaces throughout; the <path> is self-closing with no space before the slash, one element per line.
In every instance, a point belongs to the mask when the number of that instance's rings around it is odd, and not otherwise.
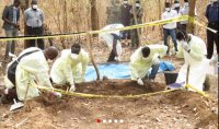
<path fill-rule="evenodd" d="M 189 4 L 189 13 L 188 13 L 188 23 L 186 26 L 186 33 L 192 34 L 193 33 L 193 27 L 194 27 L 194 20 L 195 20 L 195 3 L 196 0 L 188 0 Z"/>

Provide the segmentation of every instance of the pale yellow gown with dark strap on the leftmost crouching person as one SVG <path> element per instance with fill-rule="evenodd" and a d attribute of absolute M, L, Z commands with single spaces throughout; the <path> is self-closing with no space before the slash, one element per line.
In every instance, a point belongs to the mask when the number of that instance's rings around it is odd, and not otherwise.
<path fill-rule="evenodd" d="M 35 84 L 35 81 L 33 77 L 31 77 L 31 73 L 37 75 L 37 79 L 41 85 L 53 87 L 49 81 L 49 75 L 48 75 L 49 67 L 48 67 L 44 52 L 39 48 L 36 48 L 36 47 L 27 48 L 23 50 L 19 55 L 19 57 L 34 50 L 39 50 L 39 51 L 33 52 L 31 55 L 23 57 L 16 67 L 15 83 L 16 83 L 16 94 L 20 101 L 24 101 L 27 83 Z M 8 64 L 8 68 L 12 63 L 13 61 Z M 7 73 L 8 73 L 8 70 L 7 70 Z M 4 78 L 5 86 L 8 89 L 14 87 L 14 85 L 11 83 L 11 81 L 7 77 L 8 74 Z M 37 96 L 38 96 L 38 89 L 30 86 L 28 93 L 27 93 L 27 99 L 32 99 L 33 97 L 37 97 Z"/>

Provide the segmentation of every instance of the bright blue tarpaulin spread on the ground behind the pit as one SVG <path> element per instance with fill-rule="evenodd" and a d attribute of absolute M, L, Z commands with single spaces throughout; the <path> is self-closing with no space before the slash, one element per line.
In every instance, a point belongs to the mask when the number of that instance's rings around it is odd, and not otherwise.
<path fill-rule="evenodd" d="M 117 64 L 117 63 L 112 63 L 112 64 L 97 64 L 101 80 L 103 79 L 104 75 L 106 75 L 108 79 L 127 79 L 130 78 L 130 72 L 129 72 L 129 64 Z M 173 64 L 170 62 L 161 61 L 160 62 L 160 68 L 159 72 L 162 71 L 172 71 L 174 70 Z M 151 69 L 149 70 L 150 74 Z M 85 74 L 85 80 L 87 81 L 94 81 L 96 80 L 96 72 L 93 66 L 88 66 L 87 74 Z"/>

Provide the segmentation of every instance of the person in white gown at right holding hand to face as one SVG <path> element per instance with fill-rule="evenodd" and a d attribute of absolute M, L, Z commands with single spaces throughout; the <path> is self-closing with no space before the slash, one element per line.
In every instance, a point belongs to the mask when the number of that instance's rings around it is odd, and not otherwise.
<path fill-rule="evenodd" d="M 176 34 L 178 40 L 177 58 L 184 58 L 185 63 L 178 72 L 176 83 L 184 83 L 186 85 L 187 67 L 191 63 L 188 84 L 198 91 L 203 91 L 203 84 L 206 79 L 206 74 L 203 73 L 203 60 L 207 55 L 206 44 L 203 39 L 192 34 L 186 34 L 185 31 L 181 31 Z M 189 91 L 194 91 L 188 89 Z"/>

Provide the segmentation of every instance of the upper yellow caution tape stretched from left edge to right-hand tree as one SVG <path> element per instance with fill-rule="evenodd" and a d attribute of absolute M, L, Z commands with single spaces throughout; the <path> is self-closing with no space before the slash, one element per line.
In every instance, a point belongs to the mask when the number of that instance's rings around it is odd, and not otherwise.
<path fill-rule="evenodd" d="M 174 19 L 161 20 L 161 21 L 155 21 L 155 22 L 150 22 L 150 23 L 143 23 L 143 24 L 138 24 L 138 25 L 132 25 L 132 26 L 126 26 L 123 28 L 113 28 L 113 30 L 105 30 L 105 31 L 90 31 L 88 33 L 99 34 L 99 33 L 107 33 L 107 32 L 114 32 L 114 31 L 135 30 L 135 28 L 140 28 L 140 27 L 174 23 L 174 22 L 180 22 L 180 21 L 185 21 L 185 20 L 188 20 L 188 15 L 183 15 L 183 16 L 177 16 Z M 69 37 L 69 36 L 79 36 L 79 35 L 87 35 L 87 33 L 84 32 L 84 33 L 79 33 L 79 34 L 62 34 L 62 35 L 60 34 L 60 35 L 51 35 L 51 36 L 34 36 L 34 37 L 18 37 L 18 38 L 7 37 L 7 38 L 0 38 L 0 40 L 38 39 L 38 38 Z"/>

